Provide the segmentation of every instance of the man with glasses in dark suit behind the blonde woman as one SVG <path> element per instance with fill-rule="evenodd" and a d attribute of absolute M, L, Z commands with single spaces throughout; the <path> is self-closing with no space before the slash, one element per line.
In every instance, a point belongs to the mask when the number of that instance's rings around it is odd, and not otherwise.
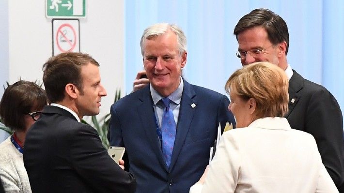
<path fill-rule="evenodd" d="M 280 15 L 255 9 L 240 18 L 234 34 L 242 65 L 268 61 L 289 78 L 289 111 L 285 115 L 293 129 L 315 138 L 322 161 L 337 188 L 344 180 L 342 112 L 333 95 L 323 86 L 304 79 L 287 63 L 289 32 Z"/>

